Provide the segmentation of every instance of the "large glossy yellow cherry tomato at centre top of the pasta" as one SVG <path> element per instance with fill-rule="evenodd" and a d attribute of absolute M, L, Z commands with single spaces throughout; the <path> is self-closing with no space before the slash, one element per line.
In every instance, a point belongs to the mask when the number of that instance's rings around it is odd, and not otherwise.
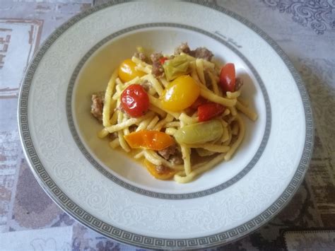
<path fill-rule="evenodd" d="M 179 76 L 163 92 L 162 105 L 166 110 L 180 112 L 192 105 L 199 95 L 200 87 L 191 76 Z"/>

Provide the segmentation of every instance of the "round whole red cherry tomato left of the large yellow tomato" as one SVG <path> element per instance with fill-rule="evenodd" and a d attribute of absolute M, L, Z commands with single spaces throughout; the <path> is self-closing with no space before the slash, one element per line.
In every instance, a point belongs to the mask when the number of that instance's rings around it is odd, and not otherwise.
<path fill-rule="evenodd" d="M 121 106 L 131 117 L 141 117 L 149 108 L 149 97 L 144 88 L 135 83 L 121 94 Z"/>

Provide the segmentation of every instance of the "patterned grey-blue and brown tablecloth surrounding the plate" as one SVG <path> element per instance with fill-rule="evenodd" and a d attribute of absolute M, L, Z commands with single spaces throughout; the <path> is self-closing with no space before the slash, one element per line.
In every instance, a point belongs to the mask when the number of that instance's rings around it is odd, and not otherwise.
<path fill-rule="evenodd" d="M 266 226 L 218 250 L 335 250 L 335 1 L 210 1 L 278 42 L 305 81 L 315 149 L 292 202 Z M 136 250 L 74 221 L 37 184 L 16 109 L 25 68 L 47 35 L 101 0 L 0 0 L 0 250 Z"/>

